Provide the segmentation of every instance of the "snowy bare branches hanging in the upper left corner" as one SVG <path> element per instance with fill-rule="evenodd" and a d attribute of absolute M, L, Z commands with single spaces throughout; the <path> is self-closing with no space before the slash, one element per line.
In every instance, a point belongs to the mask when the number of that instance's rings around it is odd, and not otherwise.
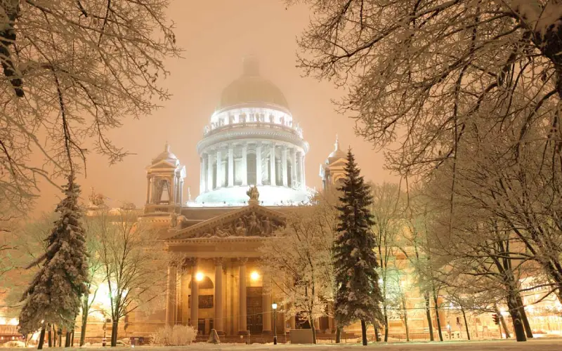
<path fill-rule="evenodd" d="M 42 178 L 85 171 L 88 152 L 127 152 L 107 134 L 169 98 L 178 56 L 169 0 L 0 2 L 0 198 L 25 212 Z M 30 155 L 41 155 L 41 163 Z M 84 161 L 81 167 L 77 161 Z M 53 183 L 54 185 L 54 183 Z"/>

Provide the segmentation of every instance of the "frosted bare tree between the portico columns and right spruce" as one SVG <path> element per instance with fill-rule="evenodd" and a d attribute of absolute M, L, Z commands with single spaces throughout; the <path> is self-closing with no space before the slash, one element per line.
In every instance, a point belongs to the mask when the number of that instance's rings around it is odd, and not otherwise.
<path fill-rule="evenodd" d="M 263 272 L 273 279 L 283 303 L 289 306 L 286 316 L 308 319 L 316 343 L 315 319 L 327 314 L 333 300 L 334 272 L 332 245 L 336 232 L 334 206 L 320 202 L 302 206 L 287 216 L 284 228 L 261 246 Z"/>

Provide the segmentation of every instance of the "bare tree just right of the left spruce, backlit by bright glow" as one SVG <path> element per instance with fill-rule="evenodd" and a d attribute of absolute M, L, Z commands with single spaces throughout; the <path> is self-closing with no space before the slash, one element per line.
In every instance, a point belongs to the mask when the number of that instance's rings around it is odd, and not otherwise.
<path fill-rule="evenodd" d="M 111 345 L 117 345 L 119 319 L 127 314 L 162 303 L 166 291 L 167 258 L 157 230 L 138 221 L 138 213 L 100 211 L 98 255 L 111 303 Z"/>

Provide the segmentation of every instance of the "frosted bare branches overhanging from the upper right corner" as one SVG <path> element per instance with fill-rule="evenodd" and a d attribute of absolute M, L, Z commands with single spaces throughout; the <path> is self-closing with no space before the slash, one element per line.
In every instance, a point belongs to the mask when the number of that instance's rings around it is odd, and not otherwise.
<path fill-rule="evenodd" d="M 388 167 L 402 175 L 457 157 L 473 116 L 509 118 L 517 88 L 534 105 L 518 117 L 528 124 L 562 97 L 558 0 L 302 2 L 313 19 L 299 39 L 300 66 L 349 87 L 342 111 L 377 147 L 398 143 Z M 491 114 L 481 111 L 487 101 Z M 550 117 L 542 143 L 559 145 L 558 113 Z"/>

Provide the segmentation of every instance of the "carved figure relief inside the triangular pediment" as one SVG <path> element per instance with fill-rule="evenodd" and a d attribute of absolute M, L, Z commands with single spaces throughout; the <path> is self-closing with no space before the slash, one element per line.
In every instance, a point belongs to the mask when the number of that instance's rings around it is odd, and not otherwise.
<path fill-rule="evenodd" d="M 280 226 L 282 226 L 280 221 L 251 211 L 228 223 L 221 223 L 210 229 L 202 229 L 201 232 L 192 232 L 186 239 L 195 237 L 270 237 Z"/>

